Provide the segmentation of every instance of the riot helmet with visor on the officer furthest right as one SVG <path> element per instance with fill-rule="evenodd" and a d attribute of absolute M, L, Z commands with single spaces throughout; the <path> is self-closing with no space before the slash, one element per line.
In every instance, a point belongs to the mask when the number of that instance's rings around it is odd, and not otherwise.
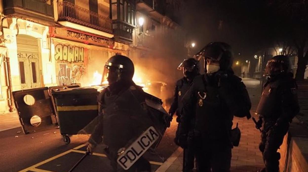
<path fill-rule="evenodd" d="M 290 62 L 288 56 L 278 55 L 267 61 L 263 76 L 276 76 L 290 71 Z"/>

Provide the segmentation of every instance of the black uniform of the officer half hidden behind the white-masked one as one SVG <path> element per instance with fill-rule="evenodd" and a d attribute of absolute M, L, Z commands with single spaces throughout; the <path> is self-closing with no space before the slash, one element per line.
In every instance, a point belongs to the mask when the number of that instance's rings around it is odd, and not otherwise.
<path fill-rule="evenodd" d="M 174 90 L 174 99 L 169 109 L 169 114 L 171 115 L 173 115 L 176 112 L 177 115 L 176 122 L 180 123 L 181 110 L 183 107 L 181 100 L 184 97 L 186 91 L 191 86 L 191 84 L 192 81 L 189 82 L 185 77 L 181 78 L 176 82 L 176 87 Z M 177 133 L 176 133 L 176 138 L 174 139 L 175 142 L 177 142 L 178 139 L 177 137 L 178 137 L 179 126 L 180 125 L 178 125 L 178 129 L 176 130 Z M 185 154 L 184 171 L 190 171 L 194 167 L 194 159 L 195 159 L 194 146 L 188 146 L 188 148 L 184 150 L 184 154 Z"/>

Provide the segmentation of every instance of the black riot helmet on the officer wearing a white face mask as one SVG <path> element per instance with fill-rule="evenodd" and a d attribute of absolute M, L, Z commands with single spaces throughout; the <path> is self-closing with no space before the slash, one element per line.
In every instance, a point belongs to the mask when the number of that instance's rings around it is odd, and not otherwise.
<path fill-rule="evenodd" d="M 233 53 L 231 46 L 225 42 L 211 42 L 204 47 L 202 52 L 204 56 L 204 68 L 206 70 L 206 59 L 216 60 L 219 62 L 220 70 L 232 70 Z"/>

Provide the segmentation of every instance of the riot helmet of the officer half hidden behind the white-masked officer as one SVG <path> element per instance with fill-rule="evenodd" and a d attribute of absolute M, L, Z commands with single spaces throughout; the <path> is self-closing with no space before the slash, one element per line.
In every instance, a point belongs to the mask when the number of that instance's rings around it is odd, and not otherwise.
<path fill-rule="evenodd" d="M 199 61 L 194 58 L 185 59 L 182 62 L 183 74 L 185 78 L 193 79 L 200 73 Z"/>

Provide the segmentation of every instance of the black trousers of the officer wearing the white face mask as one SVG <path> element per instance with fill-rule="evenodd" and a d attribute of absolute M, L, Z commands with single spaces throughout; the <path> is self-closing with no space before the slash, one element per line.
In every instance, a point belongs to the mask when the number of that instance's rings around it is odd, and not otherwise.
<path fill-rule="evenodd" d="M 198 172 L 230 172 L 230 144 L 207 143 L 205 138 L 195 136 L 194 145 Z"/>

